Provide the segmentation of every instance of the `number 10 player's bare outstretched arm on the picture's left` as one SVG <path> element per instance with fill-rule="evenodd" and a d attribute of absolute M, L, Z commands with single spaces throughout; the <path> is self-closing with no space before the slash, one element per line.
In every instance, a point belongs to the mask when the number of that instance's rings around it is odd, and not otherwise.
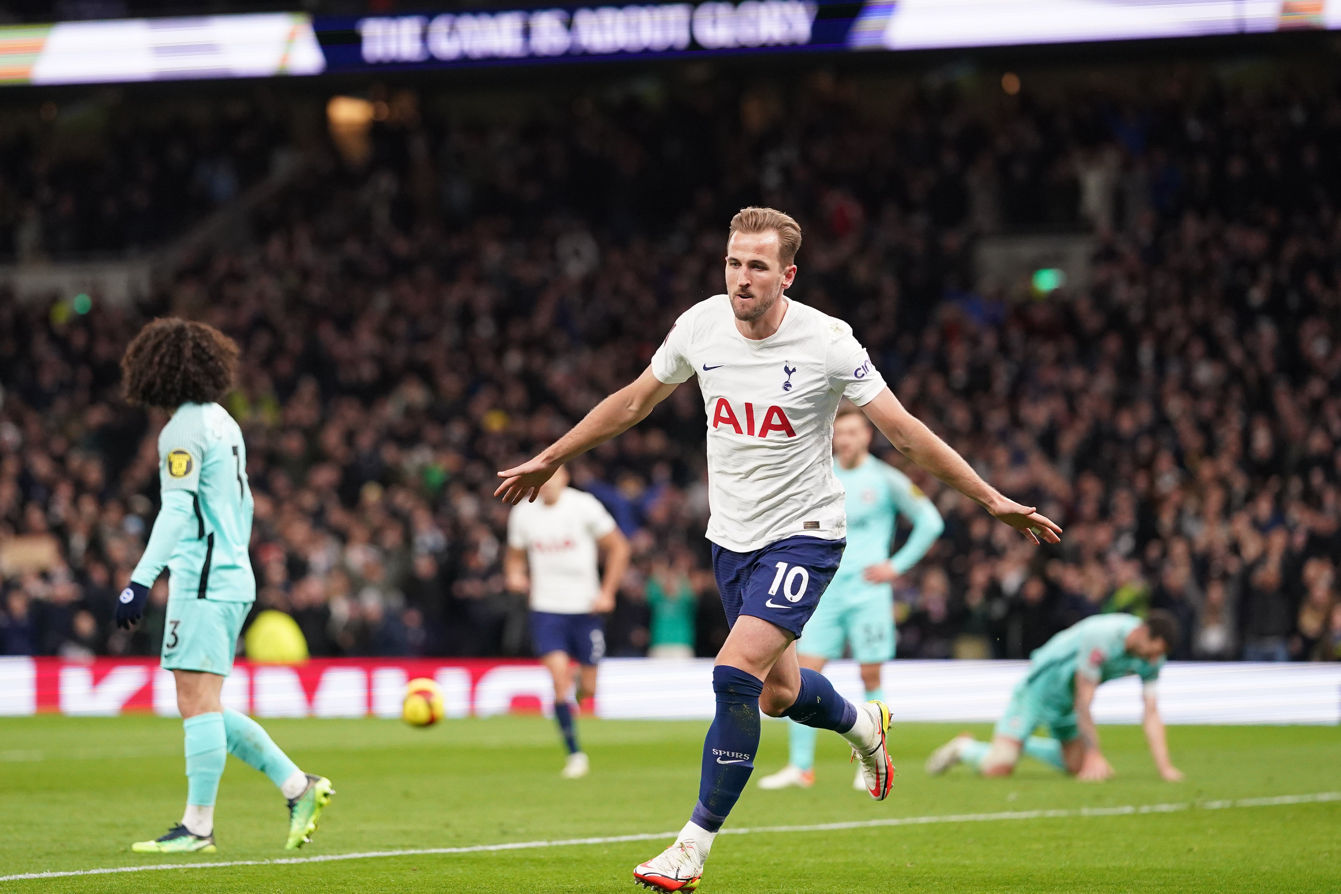
<path fill-rule="evenodd" d="M 645 420 L 652 407 L 675 389 L 675 383 L 666 385 L 653 375 L 652 367 L 642 370 L 642 375 L 597 403 L 567 434 L 535 458 L 499 472 L 503 484 L 493 496 L 514 505 L 523 497 L 534 503 L 540 485 L 550 480 L 555 469 Z"/>

